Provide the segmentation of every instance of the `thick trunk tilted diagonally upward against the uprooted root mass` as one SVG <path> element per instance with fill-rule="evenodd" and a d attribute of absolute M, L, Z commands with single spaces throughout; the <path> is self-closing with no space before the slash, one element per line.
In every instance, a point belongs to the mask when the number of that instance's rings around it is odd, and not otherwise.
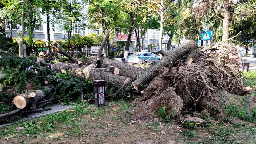
<path fill-rule="evenodd" d="M 152 78 L 154 78 L 161 67 L 168 67 L 171 61 L 177 61 L 191 51 L 196 50 L 197 45 L 193 40 L 186 40 L 184 43 L 180 44 L 174 50 L 166 53 L 163 58 L 161 58 L 156 64 L 152 65 L 148 70 L 141 73 L 137 79 L 132 83 L 136 90 L 140 90 L 145 84 L 149 83 Z"/>

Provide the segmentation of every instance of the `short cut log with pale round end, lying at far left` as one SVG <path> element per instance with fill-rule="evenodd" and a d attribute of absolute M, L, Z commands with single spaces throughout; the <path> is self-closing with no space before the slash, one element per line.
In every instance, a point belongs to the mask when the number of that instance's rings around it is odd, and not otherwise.
<path fill-rule="evenodd" d="M 50 93 L 53 92 L 51 86 L 44 86 Z M 36 103 L 47 97 L 47 93 L 42 90 L 34 90 L 33 92 L 22 93 L 13 98 L 13 103 L 19 109 L 30 108 L 35 109 Z"/>

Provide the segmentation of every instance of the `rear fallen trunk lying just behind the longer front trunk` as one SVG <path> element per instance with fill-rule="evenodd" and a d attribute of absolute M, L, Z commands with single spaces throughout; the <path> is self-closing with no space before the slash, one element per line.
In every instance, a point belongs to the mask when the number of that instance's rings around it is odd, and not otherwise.
<path fill-rule="evenodd" d="M 97 57 L 91 56 L 88 58 L 87 63 L 94 64 L 95 61 L 97 61 Z M 119 69 L 118 75 L 120 75 L 120 76 L 132 78 L 132 77 L 138 76 L 138 74 L 145 71 L 140 67 L 135 67 L 135 66 L 129 65 L 127 63 L 123 63 L 121 61 L 111 60 L 106 57 L 101 57 L 99 61 L 100 61 L 99 67 L 101 67 L 101 68 L 106 68 L 106 67 L 110 67 L 110 66 L 113 66 L 114 69 L 118 68 Z M 98 64 L 97 64 L 97 66 L 98 66 Z"/>

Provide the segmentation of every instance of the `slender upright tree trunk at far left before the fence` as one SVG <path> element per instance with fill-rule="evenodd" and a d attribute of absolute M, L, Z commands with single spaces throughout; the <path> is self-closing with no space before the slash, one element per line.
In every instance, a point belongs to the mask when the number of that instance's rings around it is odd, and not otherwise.
<path fill-rule="evenodd" d="M 23 57 L 23 37 L 24 37 L 24 33 L 25 33 L 25 30 L 24 30 L 24 7 L 25 7 L 26 3 L 25 1 L 23 2 L 23 8 L 22 8 L 22 14 L 21 14 L 21 29 L 22 31 L 20 32 L 20 41 L 19 41 L 19 56 L 20 57 Z"/>

